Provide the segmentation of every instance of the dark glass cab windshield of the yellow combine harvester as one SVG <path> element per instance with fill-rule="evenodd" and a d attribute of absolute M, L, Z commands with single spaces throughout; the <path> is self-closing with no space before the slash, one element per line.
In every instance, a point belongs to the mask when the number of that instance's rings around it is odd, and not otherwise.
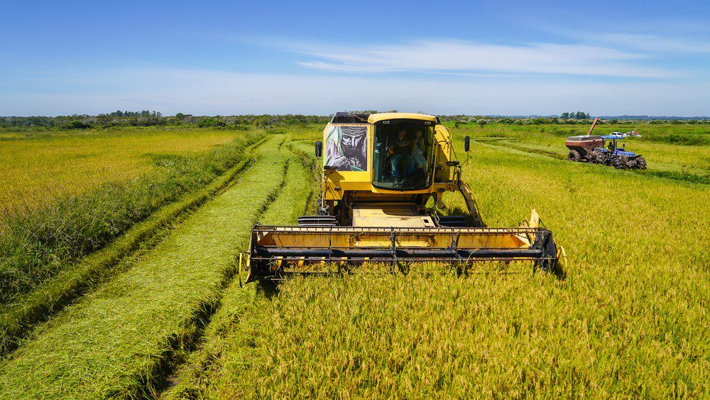
<path fill-rule="evenodd" d="M 392 190 L 428 188 L 434 168 L 433 142 L 432 121 L 375 124 L 373 185 Z"/>

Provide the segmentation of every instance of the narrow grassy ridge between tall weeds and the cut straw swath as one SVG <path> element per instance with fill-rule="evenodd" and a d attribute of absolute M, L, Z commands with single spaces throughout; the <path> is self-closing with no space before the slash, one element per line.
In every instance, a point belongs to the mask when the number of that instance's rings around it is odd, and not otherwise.
<path fill-rule="evenodd" d="M 233 183 L 236 176 L 251 163 L 253 148 L 263 140 L 244 151 L 244 160 L 229 169 L 207 187 L 191 193 L 178 202 L 163 207 L 151 217 L 138 222 L 107 247 L 84 257 L 80 263 L 61 271 L 57 276 L 45 281 L 34 291 L 4 308 L 0 313 L 0 355 L 5 355 L 18 345 L 18 340 L 29 333 L 30 328 L 41 320 L 61 310 L 70 301 L 82 296 L 89 288 L 96 286 L 111 275 L 112 267 L 124 257 L 136 251 L 144 242 L 158 234 L 176 220 L 185 217 L 205 201 Z"/>

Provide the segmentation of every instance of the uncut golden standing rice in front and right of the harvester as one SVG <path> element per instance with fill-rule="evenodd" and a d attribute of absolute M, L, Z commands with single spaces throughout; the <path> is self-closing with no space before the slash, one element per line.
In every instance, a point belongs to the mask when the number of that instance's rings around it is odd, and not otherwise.
<path fill-rule="evenodd" d="M 567 249 L 567 279 L 528 269 L 232 286 L 168 396 L 709 393 L 706 185 L 478 144 L 464 178 L 489 226 L 535 207 Z"/>

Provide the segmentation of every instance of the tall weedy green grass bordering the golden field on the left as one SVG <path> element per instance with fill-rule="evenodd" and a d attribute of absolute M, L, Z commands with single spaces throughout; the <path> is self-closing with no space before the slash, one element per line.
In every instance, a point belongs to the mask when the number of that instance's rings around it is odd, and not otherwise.
<path fill-rule="evenodd" d="M 34 209 L 5 209 L 0 218 L 0 303 L 31 291 L 159 207 L 204 187 L 238 163 L 257 137 L 241 134 L 229 144 L 192 156 L 155 156 L 162 168 L 129 181 L 62 195 Z M 121 146 L 131 144 L 129 140 Z"/>

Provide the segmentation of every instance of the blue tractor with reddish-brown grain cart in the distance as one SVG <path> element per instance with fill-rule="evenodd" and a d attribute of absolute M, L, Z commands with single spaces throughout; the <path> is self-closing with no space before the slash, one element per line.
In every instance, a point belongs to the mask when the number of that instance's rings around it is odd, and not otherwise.
<path fill-rule="evenodd" d="M 569 136 L 564 141 L 564 146 L 569 148 L 567 160 L 584 161 L 587 163 L 613 166 L 616 169 L 646 169 L 646 160 L 640 154 L 626 151 L 623 146 L 618 146 L 618 141 L 629 136 L 640 136 L 636 131 L 626 134 L 613 132 L 609 135 L 592 135 L 599 118 L 594 119 L 589 133 L 584 136 Z M 608 141 L 608 144 L 606 143 Z"/>

